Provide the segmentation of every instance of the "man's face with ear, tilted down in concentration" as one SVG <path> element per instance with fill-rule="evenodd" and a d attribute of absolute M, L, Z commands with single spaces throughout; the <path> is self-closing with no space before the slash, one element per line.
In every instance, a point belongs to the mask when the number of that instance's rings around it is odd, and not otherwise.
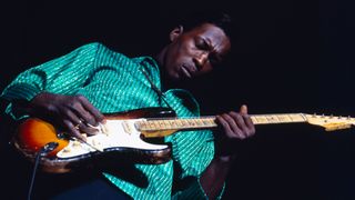
<path fill-rule="evenodd" d="M 190 31 L 176 28 L 170 33 L 171 43 L 164 57 L 164 68 L 173 80 L 191 79 L 210 72 L 230 51 L 224 31 L 203 23 Z"/>

